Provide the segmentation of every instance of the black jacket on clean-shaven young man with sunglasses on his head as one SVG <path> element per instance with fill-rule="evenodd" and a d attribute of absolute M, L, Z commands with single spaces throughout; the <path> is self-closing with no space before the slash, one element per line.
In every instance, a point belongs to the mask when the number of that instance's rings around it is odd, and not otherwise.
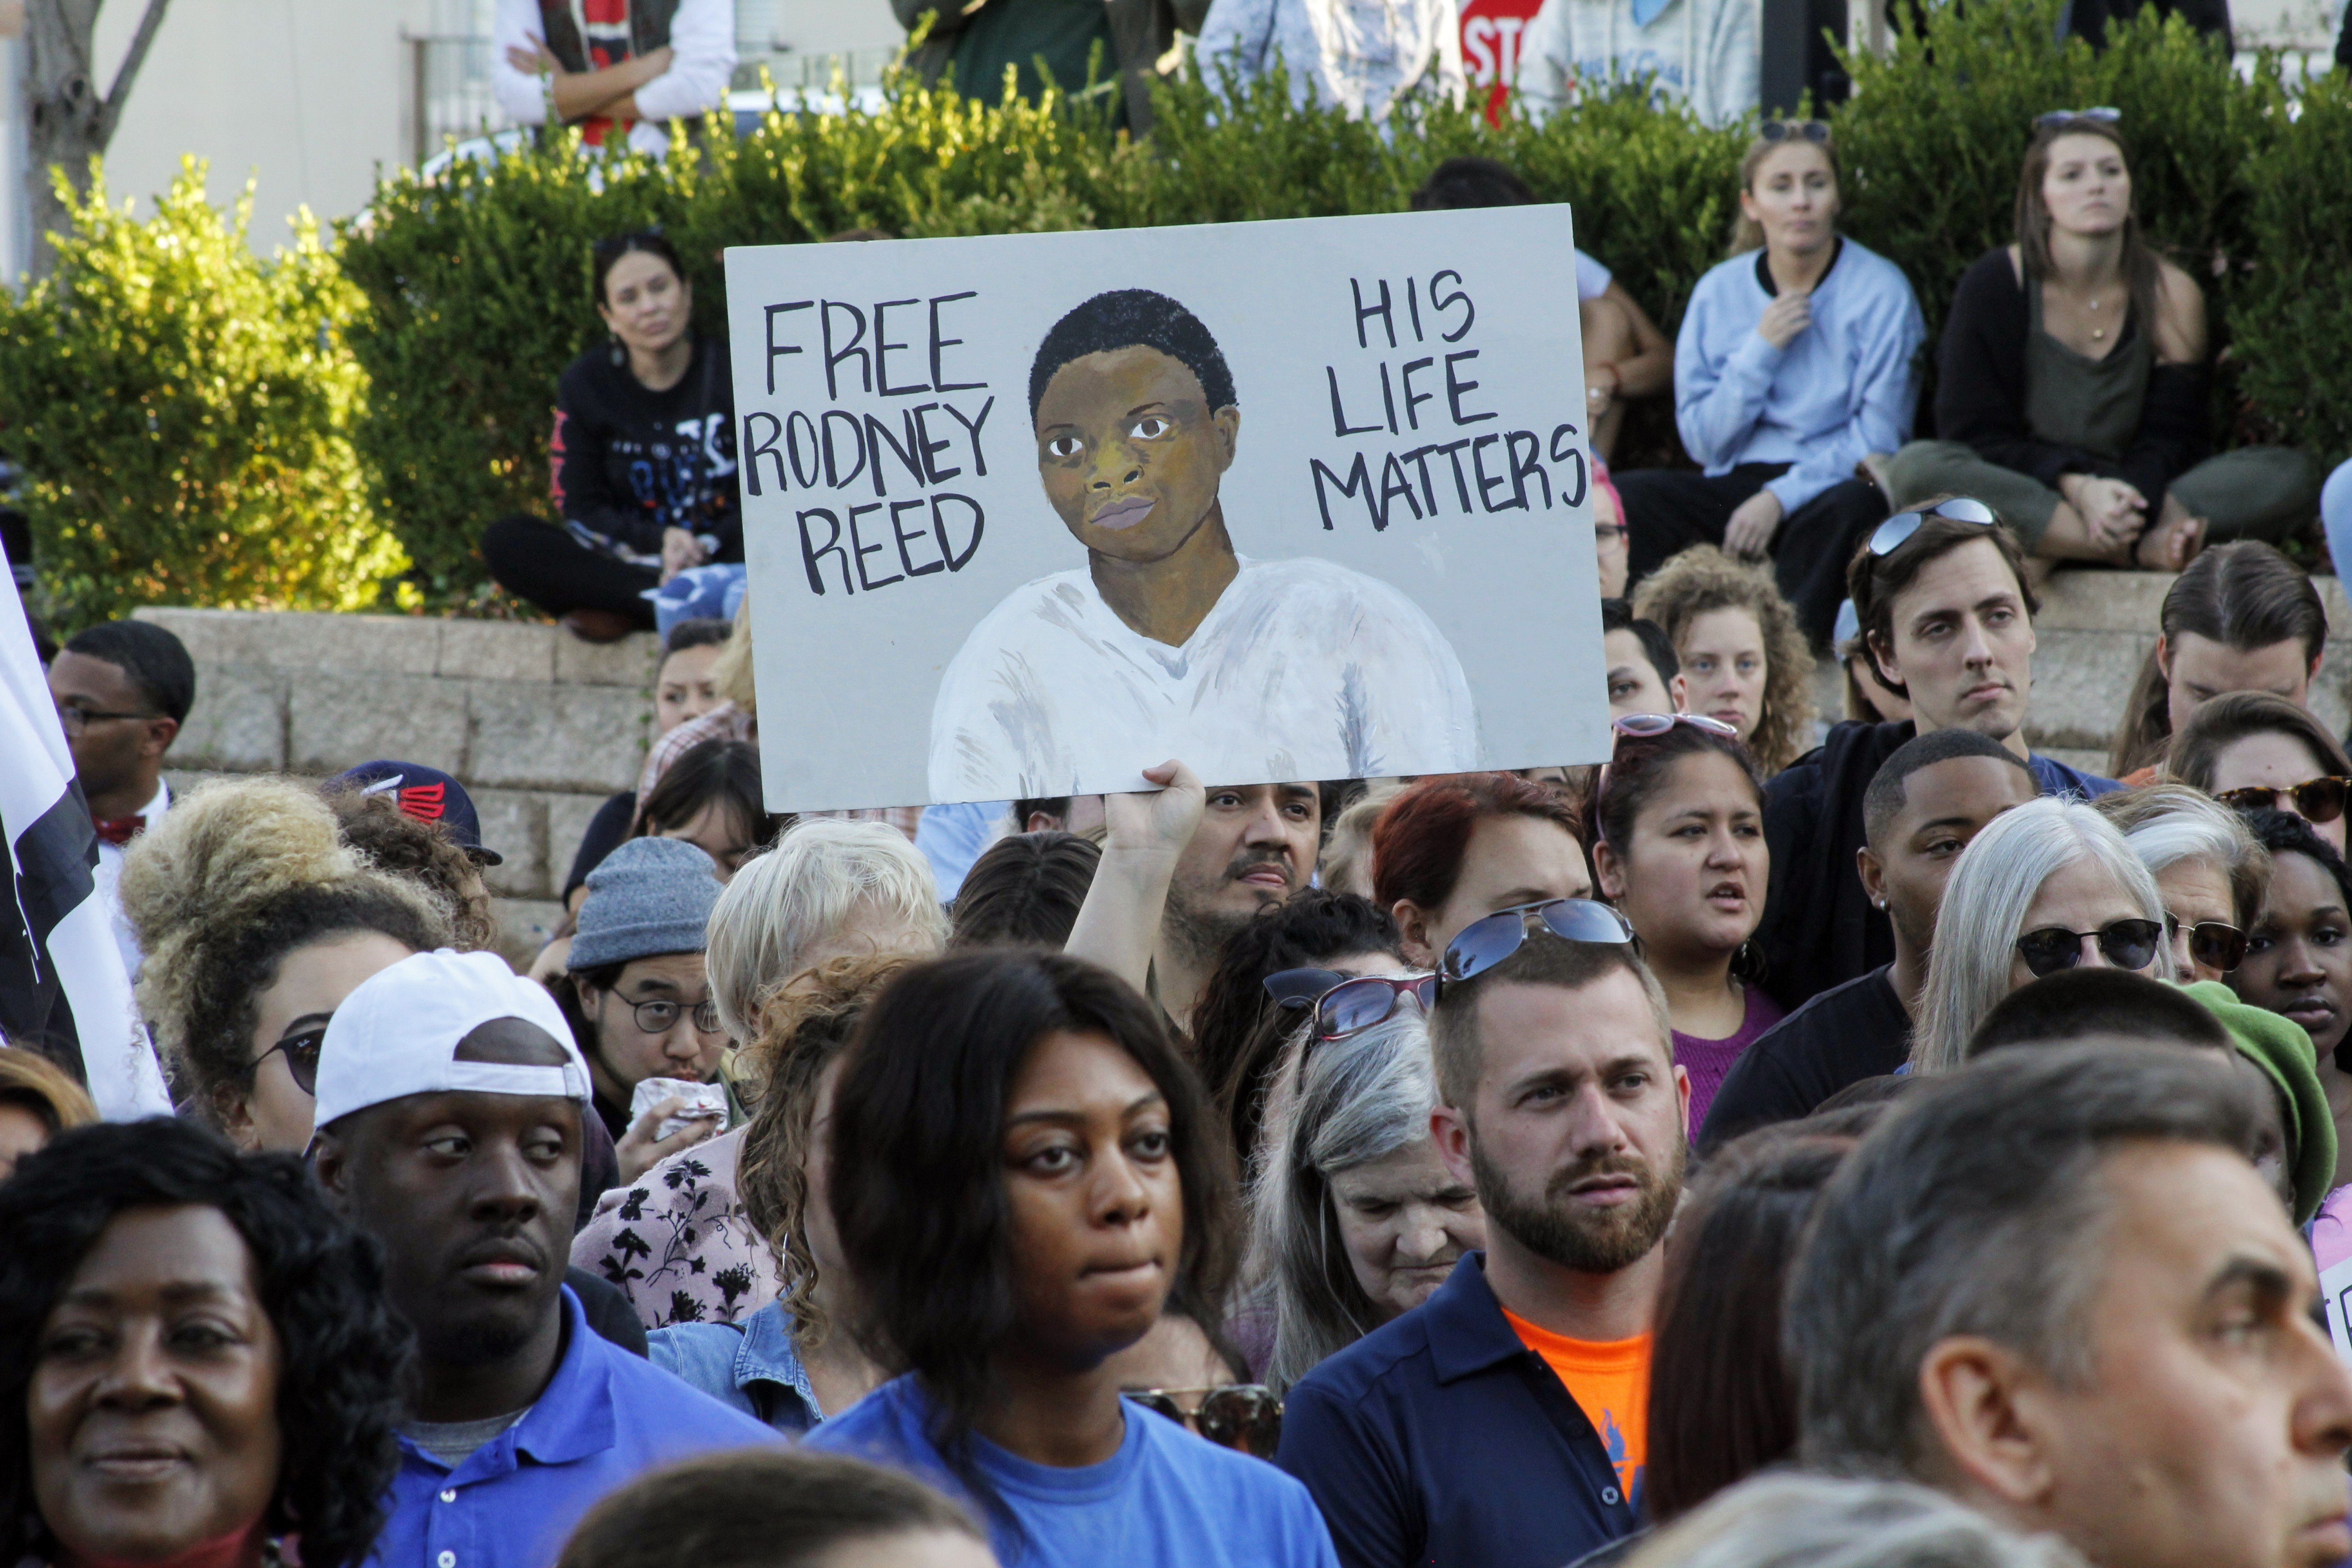
<path fill-rule="evenodd" d="M 1832 724 L 1823 745 L 1764 785 L 1771 884 L 1755 940 L 1764 990 L 1790 1013 L 1896 961 L 1896 931 L 1870 907 L 1853 851 L 1863 846 L 1863 792 L 1912 733 L 1910 719 Z"/>

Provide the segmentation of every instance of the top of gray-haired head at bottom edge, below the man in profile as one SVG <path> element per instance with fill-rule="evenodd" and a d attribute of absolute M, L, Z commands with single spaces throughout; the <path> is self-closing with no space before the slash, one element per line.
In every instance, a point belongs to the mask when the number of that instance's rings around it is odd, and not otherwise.
<path fill-rule="evenodd" d="M 2086 1568 L 2056 1535 L 2016 1535 L 1910 1481 L 1762 1474 L 1717 1493 L 1628 1568 Z"/>

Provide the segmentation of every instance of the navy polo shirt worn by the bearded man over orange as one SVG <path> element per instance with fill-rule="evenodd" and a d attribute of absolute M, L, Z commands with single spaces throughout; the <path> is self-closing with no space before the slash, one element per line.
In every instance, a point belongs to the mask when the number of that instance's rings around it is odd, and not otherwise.
<path fill-rule="evenodd" d="M 1592 1422 L 1503 1319 L 1486 1253 L 1301 1378 L 1275 1462 L 1345 1568 L 1559 1568 L 1639 1523 Z"/>

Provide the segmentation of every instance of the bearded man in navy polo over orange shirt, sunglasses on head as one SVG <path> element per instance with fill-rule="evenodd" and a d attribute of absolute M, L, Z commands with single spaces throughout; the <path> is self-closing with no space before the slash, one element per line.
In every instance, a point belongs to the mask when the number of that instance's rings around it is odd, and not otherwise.
<path fill-rule="evenodd" d="M 1590 905 L 1581 905 L 1590 910 Z M 1625 943 L 1536 910 L 1430 1020 L 1437 1150 L 1486 1208 L 1425 1305 L 1308 1373 L 1277 1462 L 1348 1568 L 1559 1568 L 1639 1523 L 1649 1319 L 1682 1197 L 1689 1079 Z"/>

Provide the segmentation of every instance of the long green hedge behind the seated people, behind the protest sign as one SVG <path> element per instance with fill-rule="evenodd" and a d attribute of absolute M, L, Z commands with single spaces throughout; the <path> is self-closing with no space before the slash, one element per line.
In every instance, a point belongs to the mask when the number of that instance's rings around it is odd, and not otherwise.
<path fill-rule="evenodd" d="M 1846 61 L 1856 96 L 1832 113 L 1846 233 L 1910 273 L 1933 331 L 1959 270 L 2009 237 L 2034 115 L 2112 103 L 2150 233 L 2213 303 L 2227 371 L 2218 421 L 2234 440 L 2345 456 L 2352 94 L 2326 82 L 2296 99 L 2270 63 L 2239 80 L 2218 47 L 2154 7 L 2100 54 L 2058 45 L 2056 5 L 1931 5 L 1924 33 Z M 661 223 L 715 329 L 727 244 L 1395 212 L 1442 158 L 1489 153 L 1541 197 L 1573 202 L 1578 242 L 1672 334 L 1724 256 L 1745 136 L 1639 92 L 1545 125 L 1411 103 L 1369 127 L 1294 108 L 1277 78 L 1162 89 L 1145 143 L 1110 132 L 1098 108 L 983 103 L 910 80 L 870 115 L 779 113 L 743 139 L 710 127 L 668 165 L 593 155 L 555 132 L 496 165 L 393 174 L 367 214 L 339 226 L 334 256 L 365 308 L 336 341 L 367 383 L 365 400 L 339 407 L 372 510 L 414 557 L 414 588 L 461 604 L 485 576 L 482 524 L 546 505 L 555 378 L 602 334 L 588 299 L 588 247 L 602 235 Z M 1562 308 L 1571 287 L 1562 259 Z M 127 381 L 111 371 L 80 381 L 85 397 L 115 386 Z M 1658 407 L 1628 440 L 1637 458 L 1679 456 Z M 49 482 L 61 451 L 24 456 Z M 198 592 L 195 576 L 174 574 L 167 592 L 181 581 Z"/>

